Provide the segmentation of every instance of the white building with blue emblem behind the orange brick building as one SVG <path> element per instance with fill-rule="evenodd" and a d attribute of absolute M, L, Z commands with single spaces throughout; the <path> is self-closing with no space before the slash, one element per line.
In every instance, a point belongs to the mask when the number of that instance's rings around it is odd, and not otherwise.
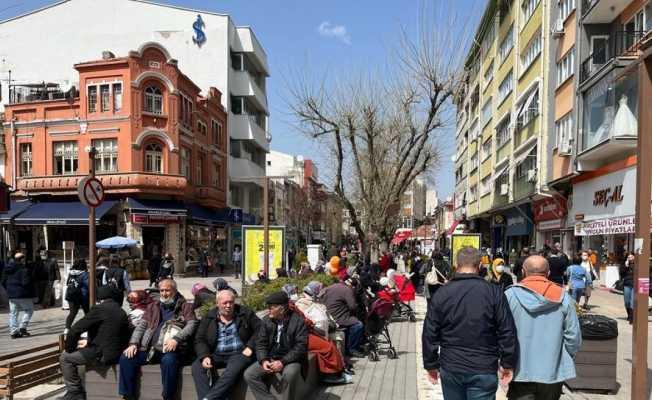
<path fill-rule="evenodd" d="M 271 140 L 267 55 L 253 30 L 228 15 L 146 0 L 62 0 L 0 21 L 0 112 L 10 101 L 9 84 L 85 90 L 75 63 L 101 59 L 103 51 L 126 56 L 150 42 L 163 46 L 203 94 L 210 86 L 222 92 L 229 110 L 228 203 L 259 211 Z"/>

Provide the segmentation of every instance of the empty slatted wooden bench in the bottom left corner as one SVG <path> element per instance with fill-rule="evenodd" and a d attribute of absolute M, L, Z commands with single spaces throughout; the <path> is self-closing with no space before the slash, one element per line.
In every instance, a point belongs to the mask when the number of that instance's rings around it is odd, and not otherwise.
<path fill-rule="evenodd" d="M 0 395 L 12 400 L 16 393 L 61 378 L 59 341 L 0 357 Z"/>

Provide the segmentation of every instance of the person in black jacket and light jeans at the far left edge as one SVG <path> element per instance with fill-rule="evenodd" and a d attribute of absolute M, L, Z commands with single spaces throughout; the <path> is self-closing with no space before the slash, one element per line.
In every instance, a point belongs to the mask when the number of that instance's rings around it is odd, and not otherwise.
<path fill-rule="evenodd" d="M 2 286 L 9 299 L 9 335 L 12 339 L 30 336 L 27 331 L 34 314 L 34 273 L 25 264 L 25 255 L 17 252 L 3 271 Z M 18 316 L 23 313 L 20 323 Z"/>

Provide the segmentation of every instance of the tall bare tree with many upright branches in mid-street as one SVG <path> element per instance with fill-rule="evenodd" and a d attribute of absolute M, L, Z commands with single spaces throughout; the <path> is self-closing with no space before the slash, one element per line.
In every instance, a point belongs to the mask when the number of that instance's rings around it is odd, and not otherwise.
<path fill-rule="evenodd" d="M 403 35 L 384 73 L 329 86 L 295 77 L 289 85 L 298 129 L 332 154 L 333 190 L 365 254 L 389 243 L 403 194 L 443 156 L 441 135 L 462 83 L 464 29 L 435 14 L 416 41 Z"/>

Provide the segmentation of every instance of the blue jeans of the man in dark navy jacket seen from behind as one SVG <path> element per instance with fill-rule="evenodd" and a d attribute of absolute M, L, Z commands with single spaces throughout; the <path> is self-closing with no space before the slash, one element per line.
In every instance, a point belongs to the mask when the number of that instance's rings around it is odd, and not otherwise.
<path fill-rule="evenodd" d="M 460 374 L 439 371 L 441 387 L 446 400 L 493 400 L 498 390 L 498 375 Z"/>

